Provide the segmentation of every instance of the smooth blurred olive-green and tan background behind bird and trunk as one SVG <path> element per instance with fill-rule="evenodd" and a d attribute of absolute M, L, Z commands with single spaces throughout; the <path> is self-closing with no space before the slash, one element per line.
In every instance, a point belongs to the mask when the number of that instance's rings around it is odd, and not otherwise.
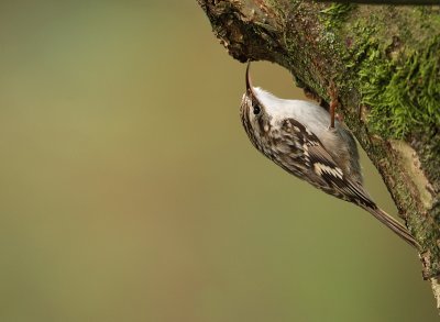
<path fill-rule="evenodd" d="M 437 320 L 407 244 L 248 142 L 196 1 L 0 9 L 0 321 Z"/>

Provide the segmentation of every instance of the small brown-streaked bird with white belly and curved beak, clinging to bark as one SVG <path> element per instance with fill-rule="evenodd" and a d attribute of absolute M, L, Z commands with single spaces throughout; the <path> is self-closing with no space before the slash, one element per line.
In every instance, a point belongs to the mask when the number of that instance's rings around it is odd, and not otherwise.
<path fill-rule="evenodd" d="M 380 209 L 364 189 L 356 143 L 345 125 L 334 120 L 334 102 L 329 113 L 308 101 L 279 99 L 252 86 L 250 65 L 240 115 L 252 144 L 289 174 L 358 204 L 420 249 L 409 231 Z"/>

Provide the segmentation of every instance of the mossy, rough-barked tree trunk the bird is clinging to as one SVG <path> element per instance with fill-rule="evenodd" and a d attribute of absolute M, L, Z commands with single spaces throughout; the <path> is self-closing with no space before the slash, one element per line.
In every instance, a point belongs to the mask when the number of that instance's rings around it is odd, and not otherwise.
<path fill-rule="evenodd" d="M 270 60 L 329 100 L 383 176 L 422 246 L 440 303 L 440 7 L 198 0 L 240 62 Z"/>

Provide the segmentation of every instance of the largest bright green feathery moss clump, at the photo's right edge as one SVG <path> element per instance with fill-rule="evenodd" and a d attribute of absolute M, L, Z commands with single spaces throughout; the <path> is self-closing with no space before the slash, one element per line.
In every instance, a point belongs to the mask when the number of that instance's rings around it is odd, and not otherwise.
<path fill-rule="evenodd" d="M 369 123 L 385 137 L 440 129 L 440 37 L 398 64 L 371 46 L 359 70 Z"/>

